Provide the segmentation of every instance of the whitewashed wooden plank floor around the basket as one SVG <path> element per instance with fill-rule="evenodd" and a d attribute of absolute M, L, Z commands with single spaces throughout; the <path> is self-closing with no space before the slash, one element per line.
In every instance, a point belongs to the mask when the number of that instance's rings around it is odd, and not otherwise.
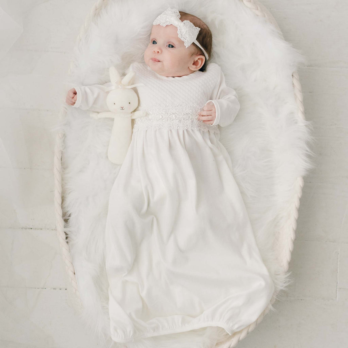
<path fill-rule="evenodd" d="M 347 348 L 348 3 L 261 2 L 308 58 L 299 76 L 317 139 L 317 168 L 304 178 L 290 262 L 295 283 L 275 304 L 278 313 L 267 315 L 238 347 Z M 68 302 L 50 132 L 71 87 L 64 76 L 74 41 L 93 3 L 0 0 L 0 9 L 22 18 L 24 29 L 0 60 L 0 348 L 101 347 Z"/>

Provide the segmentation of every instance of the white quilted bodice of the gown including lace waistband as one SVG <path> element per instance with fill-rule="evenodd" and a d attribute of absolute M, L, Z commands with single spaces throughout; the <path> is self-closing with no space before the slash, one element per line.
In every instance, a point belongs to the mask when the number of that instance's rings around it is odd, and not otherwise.
<path fill-rule="evenodd" d="M 195 71 L 181 77 L 166 77 L 151 70 L 145 63 L 133 63 L 130 69 L 136 73 L 139 106 L 146 110 L 146 117 L 134 120 L 133 130 L 143 129 L 202 129 L 219 132 L 198 120 L 198 112 L 212 98 L 212 90 L 219 81 L 219 65 L 210 63 L 206 71 Z"/>

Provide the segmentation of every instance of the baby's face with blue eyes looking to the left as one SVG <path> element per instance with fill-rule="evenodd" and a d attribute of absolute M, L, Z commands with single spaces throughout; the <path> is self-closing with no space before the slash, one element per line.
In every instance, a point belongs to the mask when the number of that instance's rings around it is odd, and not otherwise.
<path fill-rule="evenodd" d="M 150 42 L 145 50 L 144 60 L 159 75 L 184 76 L 200 69 L 203 65 L 199 64 L 199 67 L 193 65 L 195 58 L 200 56 L 191 56 L 194 50 L 192 44 L 188 48 L 185 47 L 184 41 L 179 39 L 177 35 L 176 26 L 156 24 L 152 26 Z M 156 59 L 154 60 L 154 58 Z"/>

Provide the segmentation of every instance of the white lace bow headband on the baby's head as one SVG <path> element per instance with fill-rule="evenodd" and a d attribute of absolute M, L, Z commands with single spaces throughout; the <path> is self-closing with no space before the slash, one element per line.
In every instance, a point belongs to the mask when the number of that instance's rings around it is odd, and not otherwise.
<path fill-rule="evenodd" d="M 186 48 L 188 48 L 192 42 L 194 42 L 203 52 L 208 60 L 208 54 L 205 52 L 204 48 L 196 40 L 200 28 L 193 25 L 190 21 L 180 21 L 180 13 L 176 8 L 168 7 L 164 12 L 162 12 L 152 24 L 160 24 L 166 26 L 173 24 L 177 27 L 177 34 L 179 38 L 184 41 Z"/>

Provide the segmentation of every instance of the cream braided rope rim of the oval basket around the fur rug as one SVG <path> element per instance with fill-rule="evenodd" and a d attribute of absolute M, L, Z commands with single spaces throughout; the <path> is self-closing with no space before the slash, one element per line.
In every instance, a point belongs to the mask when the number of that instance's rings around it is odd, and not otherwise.
<path fill-rule="evenodd" d="M 248 7 L 251 11 L 253 11 L 257 16 L 264 17 L 266 21 L 273 24 L 277 31 L 279 32 L 280 37 L 283 37 L 281 30 L 274 17 L 269 13 L 269 11 L 259 3 L 257 0 L 240 0 L 246 7 Z M 94 20 L 94 18 L 98 15 L 99 11 L 106 5 L 108 0 L 98 0 L 93 5 L 90 13 L 86 16 L 84 24 L 82 24 L 79 35 L 76 39 L 76 44 L 81 40 L 81 38 L 85 35 L 89 24 Z M 71 69 L 74 66 L 74 62 L 70 63 L 69 74 L 71 73 Z M 292 73 L 292 85 L 294 88 L 295 100 L 298 105 L 298 113 L 299 117 L 304 120 L 304 108 L 303 108 L 303 97 L 302 97 L 302 89 L 299 81 L 299 75 L 297 71 Z M 62 120 L 66 116 L 67 105 L 63 104 L 61 110 L 59 112 L 59 118 Z M 70 254 L 70 247 L 67 242 L 67 235 L 64 231 L 64 220 L 62 215 L 62 149 L 64 145 L 64 136 L 63 132 L 60 132 L 56 136 L 55 142 L 55 153 L 54 153 L 54 181 L 55 181 L 55 191 L 54 191 L 54 203 L 55 203 L 55 218 L 56 218 L 56 229 L 57 236 L 59 239 L 63 260 L 66 267 L 66 272 L 68 274 L 68 292 L 70 299 L 74 305 L 74 308 L 81 311 L 83 308 L 80 294 L 78 290 L 78 285 L 75 276 L 74 266 L 72 264 L 72 258 Z M 296 179 L 293 184 L 294 192 L 293 192 L 293 202 L 291 213 L 288 216 L 287 223 L 284 227 L 283 231 L 279 231 L 277 245 L 279 249 L 278 254 L 278 262 L 282 267 L 284 273 L 287 272 L 289 262 L 291 259 L 291 252 L 294 246 L 295 239 L 295 230 L 296 230 L 296 220 L 298 218 L 298 208 L 300 206 L 300 198 L 302 195 L 303 188 L 303 178 L 300 176 Z M 270 304 L 274 303 L 276 299 L 276 293 L 273 295 Z M 221 348 L 232 348 L 237 345 L 237 343 L 244 339 L 248 333 L 253 331 L 258 325 L 263 317 L 268 313 L 269 306 L 261 313 L 261 315 L 256 319 L 255 322 L 245 327 L 243 330 L 235 332 L 231 337 L 220 343 L 219 346 Z"/>

